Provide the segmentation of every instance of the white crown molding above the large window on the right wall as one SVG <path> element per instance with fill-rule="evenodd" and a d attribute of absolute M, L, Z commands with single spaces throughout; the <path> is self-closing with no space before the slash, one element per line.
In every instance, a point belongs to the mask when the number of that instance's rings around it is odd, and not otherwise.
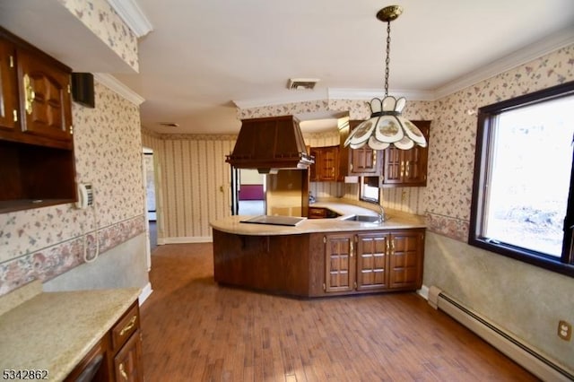
<path fill-rule="evenodd" d="M 524 65 L 538 57 L 545 56 L 571 44 L 574 44 L 574 27 L 560 30 L 549 37 L 528 45 L 526 48 L 519 49 L 511 55 L 493 62 L 491 65 L 484 65 L 480 69 L 465 74 L 455 81 L 448 82 L 434 91 L 435 100 L 461 91 L 475 83 L 483 82 L 495 75 L 507 72 L 519 65 Z"/>

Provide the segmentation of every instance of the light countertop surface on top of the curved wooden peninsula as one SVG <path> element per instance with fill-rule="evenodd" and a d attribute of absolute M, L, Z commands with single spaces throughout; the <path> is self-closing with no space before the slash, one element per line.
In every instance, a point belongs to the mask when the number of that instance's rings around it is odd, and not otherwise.
<path fill-rule="evenodd" d="M 335 232 L 350 230 L 398 230 L 410 228 L 425 228 L 424 216 L 400 213 L 396 211 L 386 211 L 387 221 L 382 223 L 363 222 L 363 221 L 345 221 L 352 215 L 373 215 L 378 213 L 368 208 L 358 205 L 317 202 L 310 204 L 309 207 L 328 208 L 335 213 L 340 214 L 338 218 L 333 219 L 306 219 L 301 221 L 297 226 L 279 226 L 267 224 L 250 224 L 240 222 L 248 219 L 250 216 L 236 215 L 223 218 L 217 221 L 211 221 L 210 224 L 215 230 L 235 233 L 239 235 L 299 235 L 304 233 L 316 232 Z"/>

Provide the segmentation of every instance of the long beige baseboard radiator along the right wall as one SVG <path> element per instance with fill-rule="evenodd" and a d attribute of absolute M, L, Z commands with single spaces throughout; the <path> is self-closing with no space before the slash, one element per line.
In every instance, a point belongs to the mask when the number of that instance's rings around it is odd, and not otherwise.
<path fill-rule="evenodd" d="M 435 286 L 429 288 L 429 304 L 456 319 L 460 324 L 472 330 L 484 341 L 506 354 L 511 360 L 517 362 L 536 377 L 552 382 L 574 380 L 572 371 L 564 369 L 555 361 L 549 360 L 540 352 L 536 352 L 525 343 L 521 343 L 512 334 L 466 308 Z"/>

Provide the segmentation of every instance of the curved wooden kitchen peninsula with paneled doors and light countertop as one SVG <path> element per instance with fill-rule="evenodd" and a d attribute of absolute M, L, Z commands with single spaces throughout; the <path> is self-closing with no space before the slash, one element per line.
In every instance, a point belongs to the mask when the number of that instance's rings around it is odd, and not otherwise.
<path fill-rule="evenodd" d="M 338 215 L 294 226 L 250 224 L 246 216 L 212 221 L 213 273 L 222 285 L 296 297 L 421 288 L 422 216 L 391 212 L 387 221 L 352 204 L 317 203 Z"/>

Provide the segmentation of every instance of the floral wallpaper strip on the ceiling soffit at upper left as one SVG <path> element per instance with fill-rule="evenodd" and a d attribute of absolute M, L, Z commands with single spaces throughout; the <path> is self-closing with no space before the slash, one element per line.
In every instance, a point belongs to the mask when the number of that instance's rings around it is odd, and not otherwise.
<path fill-rule="evenodd" d="M 58 0 L 83 24 L 139 72 L 137 37 L 106 0 Z"/>

